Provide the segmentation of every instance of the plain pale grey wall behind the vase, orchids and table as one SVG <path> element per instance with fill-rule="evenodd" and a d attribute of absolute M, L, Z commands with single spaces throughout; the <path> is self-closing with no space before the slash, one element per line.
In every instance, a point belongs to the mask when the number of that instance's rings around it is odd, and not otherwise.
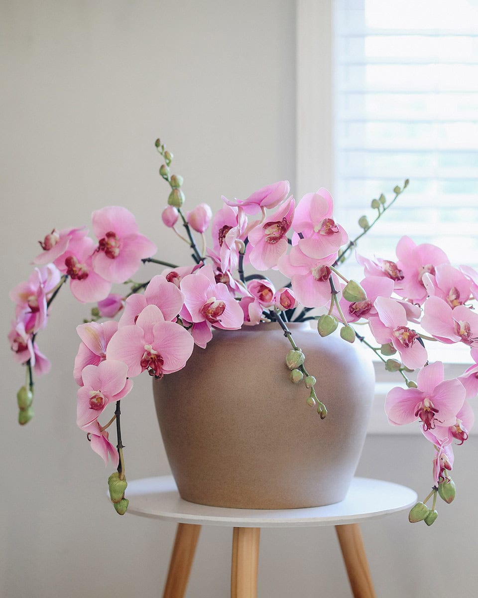
<path fill-rule="evenodd" d="M 187 260 L 160 224 L 167 188 L 157 174 L 157 136 L 176 154 L 191 203 L 217 208 L 220 194 L 244 197 L 283 178 L 294 188 L 293 0 L 0 6 L 3 338 L 13 311 L 7 291 L 29 275 L 36 240 L 53 227 L 87 224 L 93 209 L 130 208 L 166 260 Z M 53 368 L 37 380 L 36 417 L 26 428 L 16 424 L 23 370 L 1 346 L 0 595 L 158 596 L 174 525 L 120 518 L 106 501 L 109 469 L 75 425 L 74 328 L 88 310 L 62 295 L 38 337 Z M 122 405 L 130 479 L 168 473 L 149 383 L 138 379 Z M 437 596 L 455 588 L 472 595 L 477 484 L 465 474 L 465 465 L 476 471 L 469 442 L 455 474 L 459 504 L 442 507 L 431 529 L 409 526 L 404 514 L 364 524 L 378 596 L 428 596 L 425 579 Z M 359 474 L 426 493 L 424 444 L 369 437 Z M 440 545 L 451 553 L 437 571 Z M 230 546 L 230 530 L 203 529 L 188 596 L 228 595 Z M 333 529 L 264 530 L 259 567 L 262 596 L 350 596 Z"/>

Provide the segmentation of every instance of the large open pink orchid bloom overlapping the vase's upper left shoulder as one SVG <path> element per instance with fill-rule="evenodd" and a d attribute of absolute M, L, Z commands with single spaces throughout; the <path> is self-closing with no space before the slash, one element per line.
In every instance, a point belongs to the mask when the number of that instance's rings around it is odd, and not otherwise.
<path fill-rule="evenodd" d="M 150 376 L 162 378 L 181 370 L 193 348 L 194 340 L 188 331 L 166 322 L 159 307 L 148 305 L 135 325 L 118 328 L 108 343 L 106 357 L 127 364 L 128 377 L 146 370 Z"/>

